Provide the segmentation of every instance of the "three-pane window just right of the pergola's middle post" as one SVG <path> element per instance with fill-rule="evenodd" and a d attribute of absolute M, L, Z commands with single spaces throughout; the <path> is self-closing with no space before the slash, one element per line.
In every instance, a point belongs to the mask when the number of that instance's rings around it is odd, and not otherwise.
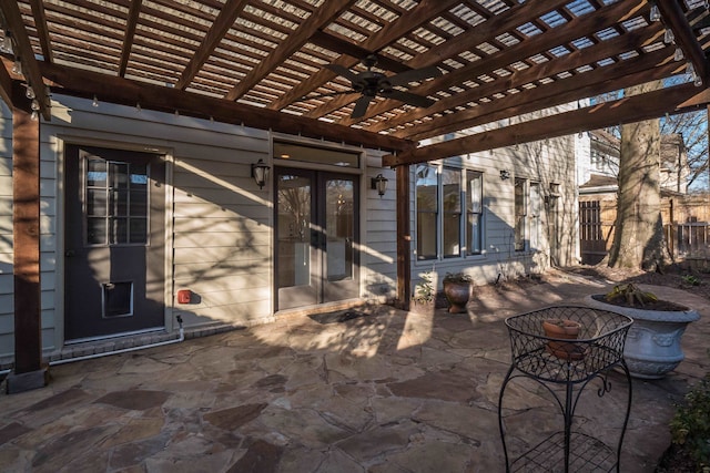
<path fill-rule="evenodd" d="M 420 164 L 416 167 L 417 259 L 483 251 L 483 174 Z"/>

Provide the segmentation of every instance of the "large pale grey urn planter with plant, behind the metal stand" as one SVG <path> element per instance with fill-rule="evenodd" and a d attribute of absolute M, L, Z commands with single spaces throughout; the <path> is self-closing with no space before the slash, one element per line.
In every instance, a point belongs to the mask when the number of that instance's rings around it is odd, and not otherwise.
<path fill-rule="evenodd" d="M 590 307 L 633 319 L 623 347 L 623 359 L 635 378 L 659 379 L 683 360 L 680 339 L 698 312 L 670 300 L 659 299 L 633 284 L 615 286 L 606 295 L 588 296 Z"/>

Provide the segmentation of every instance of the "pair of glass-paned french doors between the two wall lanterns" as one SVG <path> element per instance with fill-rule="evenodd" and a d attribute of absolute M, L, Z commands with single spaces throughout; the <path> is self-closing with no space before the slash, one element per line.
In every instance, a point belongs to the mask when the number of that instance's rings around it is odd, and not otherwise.
<path fill-rule="evenodd" d="M 358 177 L 276 168 L 276 310 L 359 296 Z"/>

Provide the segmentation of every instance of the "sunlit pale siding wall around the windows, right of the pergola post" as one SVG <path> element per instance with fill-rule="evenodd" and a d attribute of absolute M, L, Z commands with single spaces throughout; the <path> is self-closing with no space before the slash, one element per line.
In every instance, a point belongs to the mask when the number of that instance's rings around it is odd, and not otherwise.
<path fill-rule="evenodd" d="M 436 273 L 435 282 L 439 289 L 440 281 L 447 273 L 465 271 L 474 277 L 476 285 L 495 282 L 498 275 L 501 279 L 506 279 L 541 273 L 550 265 L 548 227 L 552 218 L 557 218 L 559 229 L 554 236 L 557 238 L 559 248 L 555 255 L 556 259 L 561 264 L 568 264 L 570 248 L 574 251 L 572 245 L 576 241 L 575 146 L 575 136 L 567 136 L 445 160 L 446 166 L 469 168 L 484 174 L 485 249 L 483 255 L 438 260 L 420 261 L 414 255 L 412 261 L 413 285 L 420 280 L 423 273 L 433 269 Z M 510 178 L 501 179 L 500 171 L 508 171 Z M 550 184 L 559 184 L 561 197 L 557 203 L 557 216 L 555 217 L 551 212 L 547 212 L 546 206 L 541 208 L 539 217 L 540 248 L 536 251 L 515 251 L 514 249 L 514 184 L 516 177 L 539 183 L 542 196 L 549 194 Z M 414 236 L 413 249 L 416 249 L 414 166 L 412 183 L 412 234 Z M 528 227 L 531 223 L 532 217 L 528 216 Z"/>

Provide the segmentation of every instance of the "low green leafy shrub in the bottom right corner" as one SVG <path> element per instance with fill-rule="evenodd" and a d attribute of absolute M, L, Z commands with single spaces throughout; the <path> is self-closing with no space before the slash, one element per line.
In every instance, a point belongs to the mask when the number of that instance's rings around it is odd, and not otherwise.
<path fill-rule="evenodd" d="M 710 471 L 710 373 L 686 394 L 670 422 L 671 440 L 696 462 L 697 472 Z"/>

